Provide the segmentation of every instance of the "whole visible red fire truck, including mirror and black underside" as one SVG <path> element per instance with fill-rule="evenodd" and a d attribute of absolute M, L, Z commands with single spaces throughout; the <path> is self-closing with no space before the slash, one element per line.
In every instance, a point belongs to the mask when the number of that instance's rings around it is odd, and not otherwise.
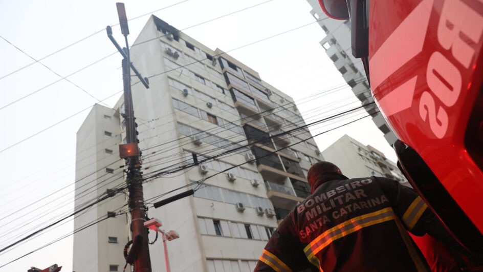
<path fill-rule="evenodd" d="M 350 12 L 353 54 L 409 182 L 460 243 L 483 252 L 483 1 L 319 3 L 336 19 Z"/>

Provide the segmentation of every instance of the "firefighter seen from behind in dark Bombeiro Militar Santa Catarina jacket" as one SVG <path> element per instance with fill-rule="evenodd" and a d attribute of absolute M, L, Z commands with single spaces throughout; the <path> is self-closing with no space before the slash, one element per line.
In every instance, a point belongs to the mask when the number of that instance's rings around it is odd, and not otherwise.
<path fill-rule="evenodd" d="M 428 271 L 407 231 L 452 243 L 424 201 L 396 180 L 348 179 L 326 161 L 307 179 L 312 195 L 279 224 L 254 271 Z"/>

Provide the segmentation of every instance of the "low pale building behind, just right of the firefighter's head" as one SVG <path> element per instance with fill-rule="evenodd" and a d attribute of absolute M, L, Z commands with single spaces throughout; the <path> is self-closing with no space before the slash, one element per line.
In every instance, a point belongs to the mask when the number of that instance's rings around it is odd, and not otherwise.
<path fill-rule="evenodd" d="M 388 160 L 381 151 L 370 145 L 363 145 L 347 135 L 322 151 L 322 156 L 339 166 L 348 178 L 387 177 L 408 185 L 396 163 Z"/>

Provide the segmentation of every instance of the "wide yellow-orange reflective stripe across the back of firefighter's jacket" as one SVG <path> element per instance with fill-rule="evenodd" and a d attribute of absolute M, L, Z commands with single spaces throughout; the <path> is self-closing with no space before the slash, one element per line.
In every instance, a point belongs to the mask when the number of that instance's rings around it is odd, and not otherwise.
<path fill-rule="evenodd" d="M 349 219 L 343 223 L 338 224 L 330 229 L 327 229 L 324 233 L 315 238 L 310 244 L 305 246 L 305 256 L 309 261 L 319 266 L 319 260 L 315 255 L 320 252 L 324 247 L 331 244 L 333 241 L 342 238 L 346 235 L 359 231 L 359 229 L 393 220 L 396 218 L 391 207 L 383 208 L 382 210 L 374 213 L 361 215 L 352 219 Z"/>

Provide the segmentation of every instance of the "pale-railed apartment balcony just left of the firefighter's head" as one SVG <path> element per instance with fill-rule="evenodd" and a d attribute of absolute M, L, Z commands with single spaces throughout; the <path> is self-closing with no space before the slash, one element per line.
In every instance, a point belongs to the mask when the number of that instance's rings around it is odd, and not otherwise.
<path fill-rule="evenodd" d="M 267 187 L 267 197 L 276 207 L 290 210 L 298 202 L 303 201 L 303 198 L 296 196 L 292 187 L 271 181 L 265 181 L 265 186 Z"/>

